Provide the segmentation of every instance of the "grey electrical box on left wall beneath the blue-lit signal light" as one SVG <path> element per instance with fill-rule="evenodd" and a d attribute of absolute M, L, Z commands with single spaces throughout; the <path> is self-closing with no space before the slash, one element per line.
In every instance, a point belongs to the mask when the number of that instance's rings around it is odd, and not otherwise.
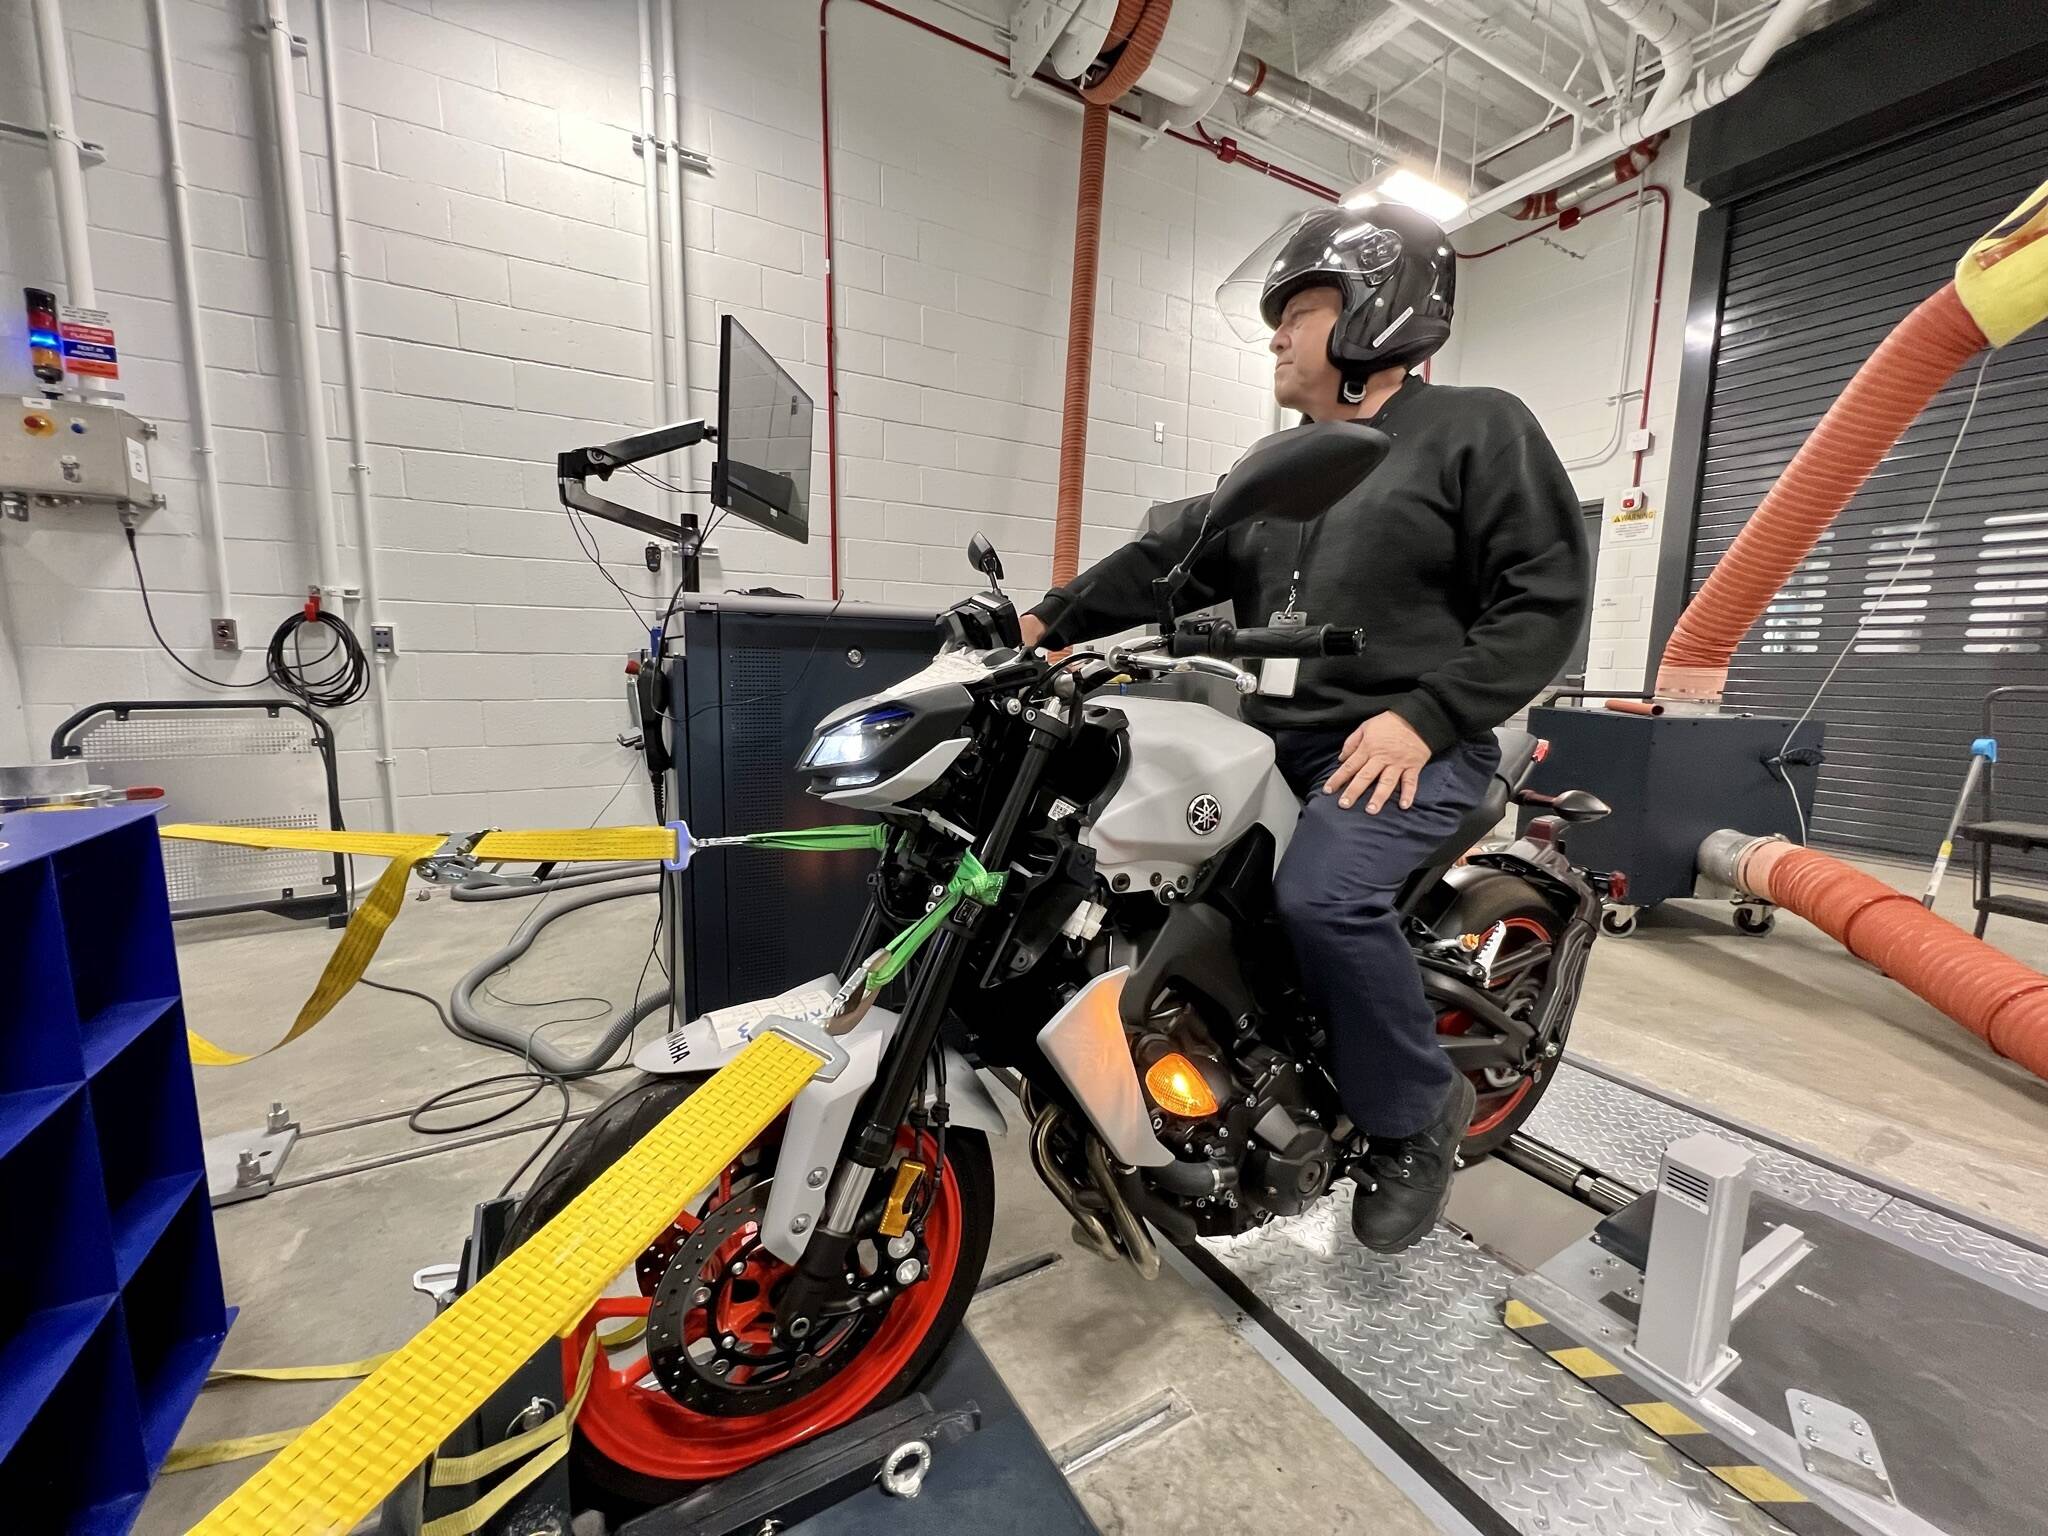
<path fill-rule="evenodd" d="M 150 481 L 156 428 L 117 406 L 23 395 L 0 416 L 0 506 L 160 506 Z"/>

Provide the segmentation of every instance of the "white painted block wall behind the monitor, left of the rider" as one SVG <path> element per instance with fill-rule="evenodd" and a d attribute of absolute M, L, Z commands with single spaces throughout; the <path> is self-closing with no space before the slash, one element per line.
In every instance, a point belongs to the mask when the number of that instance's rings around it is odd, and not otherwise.
<path fill-rule="evenodd" d="M 170 0 L 193 180 L 205 346 L 236 618 L 248 651 L 207 649 L 211 600 L 188 453 L 164 143 L 141 0 L 63 6 L 92 258 L 129 406 L 162 426 L 170 504 L 141 559 L 164 633 L 209 674 L 246 680 L 313 575 L 307 440 L 270 166 L 268 96 L 246 0 Z M 735 313 L 823 401 L 823 205 L 815 0 L 682 6 L 692 414 L 711 414 L 715 315 Z M 307 0 L 293 27 L 313 31 Z M 369 461 L 403 823 L 580 823 L 633 762 L 621 662 L 645 631 L 580 555 L 553 455 L 653 420 L 635 6 L 631 0 L 334 0 L 369 389 Z M 975 33 L 954 12 L 938 20 Z M 979 29 L 977 41 L 993 41 Z M 842 569 L 850 598 L 940 604 L 971 586 L 977 528 L 1012 586 L 1049 580 L 1077 113 L 1012 100 L 995 66 L 866 6 L 831 10 L 840 279 Z M 299 129 L 322 270 L 322 424 L 342 526 L 346 440 L 326 217 L 326 135 L 299 66 Z M 43 121 L 27 6 L 0 12 L 6 117 Z M 1305 197 L 1241 166 L 1112 133 L 1096 322 L 1083 557 L 1145 506 L 1208 483 L 1268 430 L 1270 367 L 1208 293 Z M 25 283 L 61 289 L 41 145 L 0 139 L 0 387 L 31 393 Z M 727 520 L 707 586 L 825 596 L 823 410 L 813 541 Z M 631 485 L 631 481 L 629 481 Z M 616 489 L 647 506 L 645 496 Z M 596 537 L 641 610 L 672 573 L 641 539 Z M 344 551 L 354 571 L 356 551 Z M 0 526 L 0 606 L 20 700 L 0 700 L 0 758 L 39 752 L 78 705 L 203 696 L 152 643 L 111 514 L 39 510 Z M 4 686 L 4 682 L 0 682 Z M 367 707 L 336 725 L 354 825 L 375 825 Z M 8 743 L 8 723 L 16 741 Z M 614 819 L 645 815 L 639 791 Z"/>

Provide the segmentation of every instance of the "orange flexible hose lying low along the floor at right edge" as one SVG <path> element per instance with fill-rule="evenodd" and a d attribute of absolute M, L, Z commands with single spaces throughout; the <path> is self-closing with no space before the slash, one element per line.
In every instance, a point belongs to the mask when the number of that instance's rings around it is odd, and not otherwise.
<path fill-rule="evenodd" d="M 1839 858 L 1778 838 L 1726 831 L 1716 838 L 1741 842 L 1735 850 L 1722 846 L 1718 872 L 1733 874 L 1729 885 L 1796 911 L 2001 1057 L 2048 1077 L 2048 977 L 2040 971 L 1970 938 L 1917 897 Z M 1714 838 L 1700 850 L 1702 868 L 1710 868 L 1712 846 Z"/>

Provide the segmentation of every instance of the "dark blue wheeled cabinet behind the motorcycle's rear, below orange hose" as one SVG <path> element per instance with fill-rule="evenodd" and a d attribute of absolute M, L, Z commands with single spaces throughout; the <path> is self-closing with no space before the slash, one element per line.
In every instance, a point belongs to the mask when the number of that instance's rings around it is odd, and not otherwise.
<path fill-rule="evenodd" d="M 1528 729 L 1550 743 L 1530 788 L 1585 788 L 1614 813 L 1571 829 L 1575 864 L 1622 870 L 1628 905 L 1690 897 L 1700 842 L 1710 831 L 1800 836 L 1792 795 L 1812 817 L 1815 768 L 1774 766 L 1792 731 L 1774 715 L 1622 715 L 1608 709 L 1532 709 Z M 1821 745 L 1806 721 L 1794 752 Z M 1790 784 L 1788 778 L 1790 776 Z M 1520 823 L 1542 815 L 1524 807 Z"/>

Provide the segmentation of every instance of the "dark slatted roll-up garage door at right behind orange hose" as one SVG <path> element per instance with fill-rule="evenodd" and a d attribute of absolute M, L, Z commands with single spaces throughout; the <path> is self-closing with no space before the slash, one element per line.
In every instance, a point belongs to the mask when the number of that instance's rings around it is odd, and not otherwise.
<path fill-rule="evenodd" d="M 1855 367 L 2044 176 L 2038 92 L 1731 205 L 1694 590 Z M 1817 711 L 1812 842 L 1931 858 L 1985 692 L 2048 684 L 2048 338 L 1993 356 L 1913 543 L 1974 373 L 1878 467 L 1729 672 L 1729 707 L 1796 717 L 1868 616 Z M 2048 821 L 2048 696 L 2001 715 L 1999 743 L 1999 815 Z"/>

